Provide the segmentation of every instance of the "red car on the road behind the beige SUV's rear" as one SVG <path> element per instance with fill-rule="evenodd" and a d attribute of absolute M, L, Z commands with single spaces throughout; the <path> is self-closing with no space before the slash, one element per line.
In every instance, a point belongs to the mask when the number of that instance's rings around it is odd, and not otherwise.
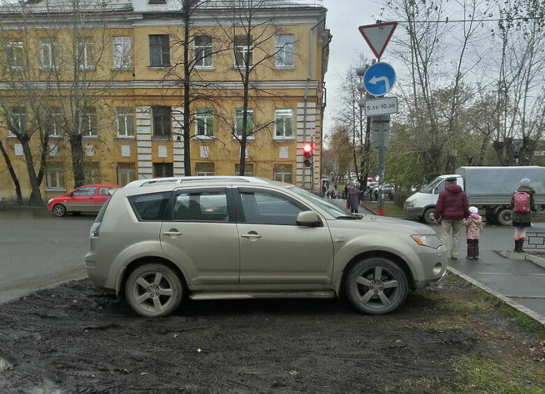
<path fill-rule="evenodd" d="M 49 200 L 48 211 L 52 211 L 58 217 L 64 216 L 67 212 L 98 213 L 108 200 L 109 191 L 118 187 L 121 186 L 117 184 L 86 184 L 70 193 Z"/>

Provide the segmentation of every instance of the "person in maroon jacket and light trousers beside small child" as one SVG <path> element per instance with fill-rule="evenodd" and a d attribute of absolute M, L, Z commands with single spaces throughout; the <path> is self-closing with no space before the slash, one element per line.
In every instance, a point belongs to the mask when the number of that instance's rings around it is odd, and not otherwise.
<path fill-rule="evenodd" d="M 465 191 L 456 184 L 456 177 L 446 179 L 446 187 L 439 193 L 435 205 L 435 223 L 441 221 L 441 240 L 452 260 L 458 260 L 463 219 L 470 216 L 470 203 Z"/>

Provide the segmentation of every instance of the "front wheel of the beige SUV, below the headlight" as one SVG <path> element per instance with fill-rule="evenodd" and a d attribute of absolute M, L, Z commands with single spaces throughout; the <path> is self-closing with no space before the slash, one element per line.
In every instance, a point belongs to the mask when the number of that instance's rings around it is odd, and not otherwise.
<path fill-rule="evenodd" d="M 366 314 L 386 314 L 405 302 L 409 286 L 399 265 L 388 258 L 370 257 L 351 268 L 345 289 L 356 309 Z"/>

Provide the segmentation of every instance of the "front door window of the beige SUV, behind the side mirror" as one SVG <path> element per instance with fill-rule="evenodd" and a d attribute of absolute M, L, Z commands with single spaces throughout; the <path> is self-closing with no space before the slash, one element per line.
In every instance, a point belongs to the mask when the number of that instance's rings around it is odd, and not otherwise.
<path fill-rule="evenodd" d="M 241 191 L 241 221 L 255 224 L 297 225 L 297 215 L 305 207 L 288 196 L 266 191 Z"/>

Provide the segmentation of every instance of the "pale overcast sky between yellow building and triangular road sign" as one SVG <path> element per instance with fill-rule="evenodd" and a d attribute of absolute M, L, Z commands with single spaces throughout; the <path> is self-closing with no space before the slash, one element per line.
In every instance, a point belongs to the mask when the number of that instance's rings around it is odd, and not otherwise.
<path fill-rule="evenodd" d="M 372 59 L 374 55 L 358 31 L 364 24 L 374 24 L 380 17 L 381 4 L 373 0 L 324 0 L 328 9 L 326 25 L 333 34 L 330 44 L 329 66 L 326 73 L 328 89 L 327 107 L 324 114 L 324 134 L 333 126 L 335 96 L 339 94 L 340 76 L 347 70 L 348 64 L 363 52 Z M 385 57 L 388 49 L 386 48 Z"/>

